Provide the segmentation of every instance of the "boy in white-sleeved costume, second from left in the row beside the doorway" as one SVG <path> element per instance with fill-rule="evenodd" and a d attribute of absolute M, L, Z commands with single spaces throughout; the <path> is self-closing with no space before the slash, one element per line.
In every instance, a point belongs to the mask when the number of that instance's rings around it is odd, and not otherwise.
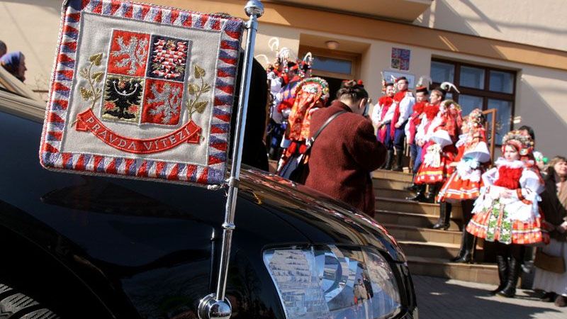
<path fill-rule="evenodd" d="M 408 90 L 408 79 L 406 77 L 399 77 L 395 81 L 398 91 L 394 94 L 393 100 L 393 117 L 390 123 L 390 138 L 393 142 L 392 147 L 388 147 L 388 157 L 386 158 L 386 169 L 391 167 L 393 162 L 393 155 L 395 153 L 395 166 L 392 170 L 402 170 L 402 157 L 403 157 L 403 142 L 405 140 L 405 124 L 412 113 L 413 104 L 415 104 L 415 97 L 412 92 Z"/>

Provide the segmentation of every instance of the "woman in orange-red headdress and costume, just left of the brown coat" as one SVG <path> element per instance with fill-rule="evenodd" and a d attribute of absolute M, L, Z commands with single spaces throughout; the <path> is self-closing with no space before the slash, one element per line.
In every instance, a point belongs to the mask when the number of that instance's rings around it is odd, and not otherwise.
<path fill-rule="evenodd" d="M 309 138 L 311 113 L 325 106 L 329 98 L 329 85 L 319 77 L 303 79 L 296 87 L 296 99 L 288 117 L 284 138 L 290 141 L 278 164 L 278 174 L 288 178 L 297 167 L 299 156 L 305 152 Z"/>

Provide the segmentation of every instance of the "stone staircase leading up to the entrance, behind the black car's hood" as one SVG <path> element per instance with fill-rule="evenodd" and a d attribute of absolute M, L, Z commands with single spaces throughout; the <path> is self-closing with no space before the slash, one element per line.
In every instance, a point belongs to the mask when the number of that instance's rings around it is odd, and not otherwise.
<path fill-rule="evenodd" d="M 377 170 L 373 172 L 376 196 L 376 220 L 398 241 L 408 258 L 412 274 L 437 276 L 485 284 L 498 284 L 495 264 L 457 264 L 449 259 L 459 253 L 462 211 L 453 205 L 449 230 L 434 230 L 439 218 L 439 204 L 408 201 L 406 191 L 411 174 Z M 477 245 L 475 261 L 483 260 L 483 247 Z"/>

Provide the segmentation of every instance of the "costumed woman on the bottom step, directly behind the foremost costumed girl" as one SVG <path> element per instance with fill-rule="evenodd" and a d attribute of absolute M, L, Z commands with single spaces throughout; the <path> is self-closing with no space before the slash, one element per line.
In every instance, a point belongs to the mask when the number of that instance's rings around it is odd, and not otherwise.
<path fill-rule="evenodd" d="M 453 202 L 461 202 L 465 227 L 471 220 L 474 200 L 481 194 L 483 164 L 490 162 L 484 123 L 485 118 L 479 108 L 471 111 L 463 122 L 461 127 L 463 134 L 459 135 L 459 141 L 455 145 L 458 152 L 455 161 L 451 163 L 455 171 L 445 181 L 437 195 L 437 201 L 445 207 L 440 210 L 441 215 L 437 223 L 433 225 L 434 229 L 447 230 L 449 228 L 451 203 Z M 463 229 L 461 250 L 455 258 L 451 259 L 451 262 L 471 262 L 473 244 L 474 236 Z"/>

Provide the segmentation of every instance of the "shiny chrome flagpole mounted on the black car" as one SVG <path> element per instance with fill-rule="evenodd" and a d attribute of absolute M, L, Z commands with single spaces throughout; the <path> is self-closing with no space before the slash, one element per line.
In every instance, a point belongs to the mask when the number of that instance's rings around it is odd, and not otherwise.
<path fill-rule="evenodd" d="M 198 306 L 198 315 L 201 319 L 228 319 L 232 314 L 232 306 L 225 298 L 226 281 L 228 277 L 228 262 L 232 244 L 232 232 L 235 230 L 235 208 L 240 183 L 240 161 L 242 160 L 242 143 L 244 141 L 246 112 L 248 109 L 248 94 L 250 77 L 252 74 L 252 59 L 254 58 L 254 43 L 258 30 L 258 18 L 264 14 L 264 5 L 260 0 L 249 0 L 245 6 L 249 16 L 246 24 L 248 30 L 244 64 L 242 66 L 242 80 L 240 82 L 240 96 L 238 99 L 238 116 L 236 118 L 236 132 L 234 148 L 232 150 L 232 164 L 228 179 L 228 198 L 225 207 L 225 222 L 223 223 L 223 244 L 220 251 L 220 265 L 216 293 L 211 293 L 201 299 Z"/>

